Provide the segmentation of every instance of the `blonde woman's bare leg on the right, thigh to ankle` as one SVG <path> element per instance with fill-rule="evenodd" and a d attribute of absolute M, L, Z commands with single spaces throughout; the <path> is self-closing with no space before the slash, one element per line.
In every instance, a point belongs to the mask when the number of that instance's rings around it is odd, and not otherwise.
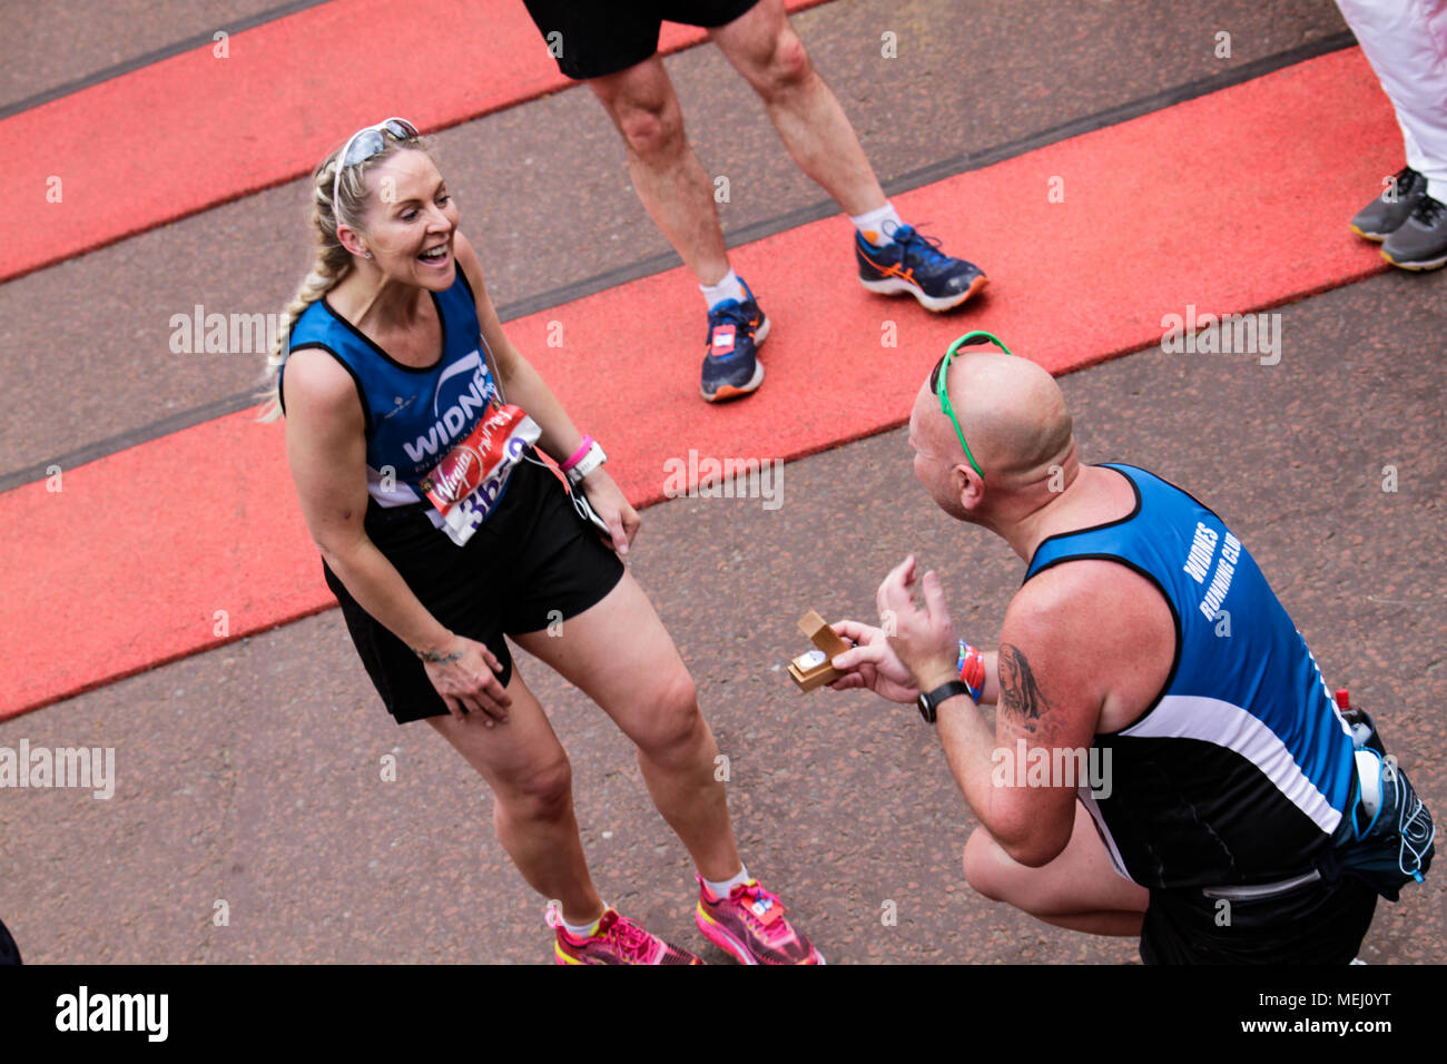
<path fill-rule="evenodd" d="M 718 744 L 699 712 L 693 679 L 631 573 L 593 608 L 563 621 L 563 634 L 518 636 L 531 654 L 577 685 L 638 747 L 653 803 L 683 840 L 705 879 L 737 874 Z"/>

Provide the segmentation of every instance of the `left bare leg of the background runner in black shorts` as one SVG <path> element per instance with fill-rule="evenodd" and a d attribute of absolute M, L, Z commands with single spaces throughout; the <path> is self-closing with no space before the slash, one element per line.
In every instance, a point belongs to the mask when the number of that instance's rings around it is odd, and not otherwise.
<path fill-rule="evenodd" d="M 728 252 L 713 185 L 683 135 L 683 110 L 663 59 L 654 55 L 587 84 L 624 136 L 628 172 L 648 217 L 699 284 L 722 281 Z"/>

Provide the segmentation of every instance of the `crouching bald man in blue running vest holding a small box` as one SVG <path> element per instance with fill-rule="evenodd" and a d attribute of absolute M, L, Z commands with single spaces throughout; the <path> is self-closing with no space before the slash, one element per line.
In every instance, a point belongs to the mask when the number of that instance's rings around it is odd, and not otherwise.
<path fill-rule="evenodd" d="M 880 586 L 883 630 L 835 625 L 858 646 L 832 686 L 938 719 L 987 898 L 1140 935 L 1147 964 L 1351 961 L 1376 905 L 1333 860 L 1370 819 L 1356 744 L 1250 553 L 1160 478 L 1081 465 L 1035 363 L 961 353 L 951 376 L 949 360 L 915 402 L 915 473 L 1004 539 L 1024 583 L 981 653 L 907 557 Z M 994 728 L 977 704 L 997 704 Z"/>

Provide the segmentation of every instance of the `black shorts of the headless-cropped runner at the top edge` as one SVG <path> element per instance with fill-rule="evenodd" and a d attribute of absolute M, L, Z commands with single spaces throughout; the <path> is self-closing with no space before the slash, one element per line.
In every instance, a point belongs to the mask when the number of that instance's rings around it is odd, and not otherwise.
<path fill-rule="evenodd" d="M 563 74 L 574 81 L 635 67 L 658 51 L 664 22 L 715 29 L 758 0 L 522 0 Z M 554 36 L 557 35 L 557 36 Z"/>

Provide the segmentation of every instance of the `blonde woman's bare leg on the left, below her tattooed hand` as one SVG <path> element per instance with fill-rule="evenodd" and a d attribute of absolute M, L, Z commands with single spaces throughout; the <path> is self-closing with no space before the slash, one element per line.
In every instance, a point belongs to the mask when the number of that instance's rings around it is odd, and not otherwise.
<path fill-rule="evenodd" d="M 462 721 L 428 717 L 492 788 L 498 841 L 522 877 L 563 905 L 569 924 L 587 924 L 603 912 L 583 858 L 573 815 L 573 770 L 543 706 L 512 669 L 508 722 L 486 728 L 479 715 Z"/>

